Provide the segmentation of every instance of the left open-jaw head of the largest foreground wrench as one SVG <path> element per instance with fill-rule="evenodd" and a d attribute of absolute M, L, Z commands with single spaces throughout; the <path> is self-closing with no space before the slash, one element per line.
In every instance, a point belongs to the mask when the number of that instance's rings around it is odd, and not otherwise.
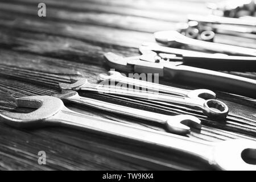
<path fill-rule="evenodd" d="M 58 113 L 63 107 L 63 102 L 51 96 L 29 96 L 16 98 L 18 107 L 36 109 L 31 113 L 11 113 L 3 111 L 0 120 L 14 127 L 42 126 L 46 119 Z"/>

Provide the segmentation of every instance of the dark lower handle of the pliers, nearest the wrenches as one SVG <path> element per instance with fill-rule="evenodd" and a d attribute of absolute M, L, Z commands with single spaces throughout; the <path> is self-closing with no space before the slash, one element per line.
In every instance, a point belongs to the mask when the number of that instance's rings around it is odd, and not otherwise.
<path fill-rule="evenodd" d="M 176 67 L 167 65 L 164 67 L 164 75 L 180 81 L 207 86 L 208 88 L 247 97 L 256 97 L 256 80 L 250 78 L 186 65 Z"/>

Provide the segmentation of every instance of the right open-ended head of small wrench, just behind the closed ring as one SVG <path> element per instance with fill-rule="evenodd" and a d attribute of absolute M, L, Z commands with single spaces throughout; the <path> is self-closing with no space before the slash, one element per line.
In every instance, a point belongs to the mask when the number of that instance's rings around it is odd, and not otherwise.
<path fill-rule="evenodd" d="M 214 93 L 214 92 L 212 92 L 212 90 L 208 90 L 208 89 L 196 89 L 196 90 L 191 90 L 187 94 L 187 97 L 209 100 L 209 99 L 215 99 L 216 93 Z"/>

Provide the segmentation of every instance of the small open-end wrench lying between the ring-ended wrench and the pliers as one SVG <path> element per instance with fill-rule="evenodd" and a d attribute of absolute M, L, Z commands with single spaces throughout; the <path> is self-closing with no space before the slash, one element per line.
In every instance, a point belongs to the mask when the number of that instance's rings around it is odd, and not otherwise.
<path fill-rule="evenodd" d="M 109 75 L 105 73 L 101 73 L 98 75 L 99 81 L 114 81 L 119 82 L 127 85 L 137 86 L 139 88 L 148 89 L 153 92 L 162 92 L 166 94 L 175 94 L 178 96 L 188 97 L 188 98 L 195 98 L 195 99 L 215 99 L 216 94 L 212 92 L 212 90 L 207 89 L 196 89 L 196 90 L 187 90 L 187 89 L 180 89 L 172 86 L 155 84 L 154 82 L 143 81 L 139 79 L 129 78 L 123 76 L 121 73 L 116 71 L 109 71 Z"/>

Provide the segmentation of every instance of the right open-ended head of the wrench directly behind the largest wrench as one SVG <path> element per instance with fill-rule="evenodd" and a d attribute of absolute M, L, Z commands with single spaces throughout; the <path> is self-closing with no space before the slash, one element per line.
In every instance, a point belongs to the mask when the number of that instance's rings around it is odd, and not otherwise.
<path fill-rule="evenodd" d="M 189 134 L 191 127 L 201 129 L 201 121 L 193 115 L 175 115 L 168 118 L 166 122 L 167 130 L 174 134 Z"/>

